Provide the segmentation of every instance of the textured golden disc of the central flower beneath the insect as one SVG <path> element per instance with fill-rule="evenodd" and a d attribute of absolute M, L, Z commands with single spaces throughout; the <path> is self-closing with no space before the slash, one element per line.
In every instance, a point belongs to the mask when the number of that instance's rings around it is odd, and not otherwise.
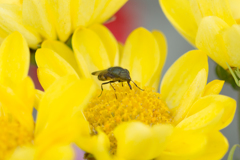
<path fill-rule="evenodd" d="M 127 83 L 112 86 L 110 90 L 103 90 L 100 97 L 100 92 L 96 94 L 84 111 L 92 134 L 97 134 L 96 129 L 100 127 L 109 137 L 112 154 L 117 148 L 113 130 L 122 122 L 140 121 L 149 126 L 171 123 L 169 108 L 153 88 L 144 87 L 142 91 L 132 83 L 132 90 Z"/>

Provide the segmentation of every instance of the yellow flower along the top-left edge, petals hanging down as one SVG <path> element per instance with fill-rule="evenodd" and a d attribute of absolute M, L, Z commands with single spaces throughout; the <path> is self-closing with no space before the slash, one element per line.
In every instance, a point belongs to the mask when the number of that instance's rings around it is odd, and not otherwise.
<path fill-rule="evenodd" d="M 0 42 L 19 31 L 29 47 L 44 39 L 65 42 L 79 26 L 103 23 L 127 0 L 23 0 L 22 5 L 0 3 Z"/>

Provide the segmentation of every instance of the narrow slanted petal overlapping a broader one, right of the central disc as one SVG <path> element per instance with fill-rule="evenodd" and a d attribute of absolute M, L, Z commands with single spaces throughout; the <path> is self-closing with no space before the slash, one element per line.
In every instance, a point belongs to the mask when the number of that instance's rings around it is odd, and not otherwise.
<path fill-rule="evenodd" d="M 202 95 L 206 83 L 207 73 L 205 69 L 202 69 L 198 72 L 196 78 L 180 100 L 179 106 L 176 107 L 176 111 L 173 113 L 175 124 L 178 124 L 187 115 L 192 104 Z"/>

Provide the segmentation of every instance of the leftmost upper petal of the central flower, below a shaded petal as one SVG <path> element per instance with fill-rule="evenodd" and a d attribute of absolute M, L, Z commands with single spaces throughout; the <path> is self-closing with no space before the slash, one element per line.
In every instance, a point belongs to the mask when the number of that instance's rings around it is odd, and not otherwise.
<path fill-rule="evenodd" d="M 74 68 L 59 54 L 48 48 L 38 49 L 36 52 L 36 62 L 38 67 L 43 67 L 51 70 L 60 77 L 67 74 L 73 74 L 78 77 Z"/>

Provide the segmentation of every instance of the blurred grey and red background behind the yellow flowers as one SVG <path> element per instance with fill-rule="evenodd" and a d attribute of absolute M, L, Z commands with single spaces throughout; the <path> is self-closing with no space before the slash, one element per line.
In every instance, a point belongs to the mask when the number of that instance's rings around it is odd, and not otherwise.
<path fill-rule="evenodd" d="M 184 53 L 195 49 L 191 46 L 169 23 L 163 14 L 158 0 L 129 0 L 115 15 L 113 22 L 105 24 L 114 34 L 118 41 L 124 43 L 127 36 L 136 28 L 144 27 L 148 30 L 162 31 L 168 43 L 168 56 L 162 72 L 165 74 L 167 69 Z M 186 17 L 187 18 L 187 17 Z M 218 79 L 215 73 L 216 64 L 209 59 L 209 75 L 208 82 Z M 31 67 L 30 74 L 37 83 L 36 68 Z M 37 88 L 41 86 L 37 83 Z M 237 100 L 237 92 L 232 89 L 229 84 L 225 84 L 221 92 L 222 95 L 227 95 Z M 36 114 L 36 112 L 34 112 Z M 238 122 L 237 112 L 233 122 L 222 133 L 229 141 L 229 149 L 234 144 L 239 144 L 238 138 Z M 227 160 L 227 155 L 223 158 Z M 235 159 L 240 160 L 240 149 L 235 152 Z"/>

